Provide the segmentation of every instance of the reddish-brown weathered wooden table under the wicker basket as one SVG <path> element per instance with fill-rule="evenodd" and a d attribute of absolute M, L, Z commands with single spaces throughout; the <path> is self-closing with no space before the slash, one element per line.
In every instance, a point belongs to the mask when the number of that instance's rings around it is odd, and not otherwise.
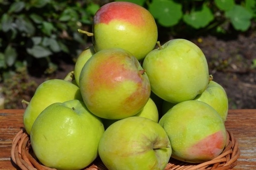
<path fill-rule="evenodd" d="M 10 159 L 12 139 L 23 126 L 24 110 L 0 110 L 0 170 L 19 169 Z M 230 110 L 226 129 L 239 141 L 241 155 L 234 170 L 256 170 L 256 109 Z"/>

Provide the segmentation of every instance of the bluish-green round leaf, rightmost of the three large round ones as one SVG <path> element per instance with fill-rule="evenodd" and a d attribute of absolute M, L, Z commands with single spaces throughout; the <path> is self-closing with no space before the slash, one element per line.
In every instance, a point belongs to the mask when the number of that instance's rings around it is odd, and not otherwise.
<path fill-rule="evenodd" d="M 231 20 L 233 27 L 240 31 L 246 31 L 250 27 L 250 20 L 253 17 L 249 11 L 239 5 L 235 5 L 230 11 L 227 11 L 225 16 Z"/>

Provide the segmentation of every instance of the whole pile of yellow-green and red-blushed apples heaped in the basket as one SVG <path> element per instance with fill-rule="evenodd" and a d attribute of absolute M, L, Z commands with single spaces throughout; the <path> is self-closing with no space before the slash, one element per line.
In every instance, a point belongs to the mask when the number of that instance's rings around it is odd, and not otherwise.
<path fill-rule="evenodd" d="M 79 170 L 99 156 L 109 170 L 163 170 L 222 152 L 227 94 L 197 45 L 160 45 L 152 15 L 128 2 L 102 6 L 85 33 L 93 45 L 74 71 L 38 86 L 23 116 L 42 164 Z"/>

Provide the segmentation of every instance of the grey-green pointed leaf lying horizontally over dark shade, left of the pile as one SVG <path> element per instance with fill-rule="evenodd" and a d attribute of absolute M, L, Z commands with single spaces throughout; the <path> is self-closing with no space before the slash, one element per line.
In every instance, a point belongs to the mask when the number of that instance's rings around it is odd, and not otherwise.
<path fill-rule="evenodd" d="M 48 48 L 40 45 L 34 45 L 32 48 L 26 48 L 26 51 L 35 58 L 48 57 L 52 54 L 52 52 Z"/>

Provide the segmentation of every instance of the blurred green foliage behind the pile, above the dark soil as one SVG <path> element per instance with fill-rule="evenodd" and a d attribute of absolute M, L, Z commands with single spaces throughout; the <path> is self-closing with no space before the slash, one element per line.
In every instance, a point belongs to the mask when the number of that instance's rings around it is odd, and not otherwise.
<path fill-rule="evenodd" d="M 148 9 L 160 31 L 176 36 L 200 31 L 225 35 L 230 28 L 244 32 L 256 20 L 255 0 L 125 1 Z M 52 62 L 56 56 L 76 58 L 90 40 L 77 29 L 91 31 L 93 15 L 108 2 L 111 0 L 0 0 L 0 81 L 10 77 L 10 71 L 34 63 L 51 74 L 58 68 Z"/>

